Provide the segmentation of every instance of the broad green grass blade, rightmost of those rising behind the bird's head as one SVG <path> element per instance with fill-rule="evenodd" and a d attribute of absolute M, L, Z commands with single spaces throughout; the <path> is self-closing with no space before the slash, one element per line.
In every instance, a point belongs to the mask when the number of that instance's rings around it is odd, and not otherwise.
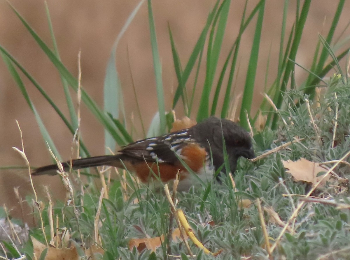
<path fill-rule="evenodd" d="M 262 21 L 264 18 L 264 10 L 265 10 L 265 1 L 262 2 L 258 13 L 257 26 L 255 27 L 255 34 L 253 39 L 252 51 L 250 53 L 250 59 L 247 70 L 247 78 L 245 81 L 243 97 L 242 97 L 242 105 L 240 109 L 240 124 L 242 127 L 248 129 L 248 122 L 245 113 L 247 112 L 250 115 L 250 109 L 252 106 L 253 100 L 253 92 L 254 92 L 254 82 L 255 75 L 257 71 L 258 65 L 258 57 L 259 57 L 259 45 L 261 39 L 261 29 L 262 29 Z"/>

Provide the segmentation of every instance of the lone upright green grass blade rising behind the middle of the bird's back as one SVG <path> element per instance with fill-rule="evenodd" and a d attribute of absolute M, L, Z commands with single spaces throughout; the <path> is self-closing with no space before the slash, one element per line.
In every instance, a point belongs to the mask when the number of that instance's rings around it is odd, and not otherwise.
<path fill-rule="evenodd" d="M 152 45 L 152 55 L 153 55 L 153 67 L 155 74 L 156 90 L 157 90 L 157 100 L 158 100 L 158 111 L 160 120 L 160 133 L 164 134 L 166 132 L 166 117 L 165 117 L 165 101 L 164 101 L 164 89 L 162 82 L 162 66 L 160 63 L 157 37 L 155 33 L 155 25 L 152 12 L 151 0 L 148 0 L 148 21 L 149 21 L 149 31 L 151 36 Z"/>

